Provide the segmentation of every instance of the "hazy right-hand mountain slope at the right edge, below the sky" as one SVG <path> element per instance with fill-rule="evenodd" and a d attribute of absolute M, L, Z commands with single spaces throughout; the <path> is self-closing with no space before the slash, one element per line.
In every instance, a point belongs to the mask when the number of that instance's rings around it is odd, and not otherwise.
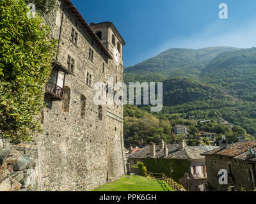
<path fill-rule="evenodd" d="M 200 78 L 223 87 L 236 98 L 256 101 L 256 48 L 218 55 L 202 70 Z"/>

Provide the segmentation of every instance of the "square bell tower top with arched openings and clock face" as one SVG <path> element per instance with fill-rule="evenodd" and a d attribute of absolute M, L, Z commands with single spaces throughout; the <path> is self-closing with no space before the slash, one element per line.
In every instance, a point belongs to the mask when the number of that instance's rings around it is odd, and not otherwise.
<path fill-rule="evenodd" d="M 99 24 L 91 23 L 90 27 L 97 34 L 100 41 L 113 55 L 113 59 L 118 61 L 118 55 L 120 57 L 120 63 L 123 64 L 123 46 L 125 41 L 116 29 L 115 25 L 111 22 L 102 22 Z"/>

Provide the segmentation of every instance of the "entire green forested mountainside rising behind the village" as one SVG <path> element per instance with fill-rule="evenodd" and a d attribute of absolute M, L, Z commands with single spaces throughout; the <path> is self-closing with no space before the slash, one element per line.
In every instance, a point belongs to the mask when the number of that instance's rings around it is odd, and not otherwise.
<path fill-rule="evenodd" d="M 124 72 L 125 82 L 163 82 L 158 119 L 225 119 L 256 136 L 256 48 L 174 48 Z"/>

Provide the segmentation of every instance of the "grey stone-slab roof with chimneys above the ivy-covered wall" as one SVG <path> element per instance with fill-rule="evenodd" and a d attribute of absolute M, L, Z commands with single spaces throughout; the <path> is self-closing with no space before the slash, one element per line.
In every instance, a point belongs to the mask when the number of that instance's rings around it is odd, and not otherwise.
<path fill-rule="evenodd" d="M 186 146 L 184 149 L 179 149 L 178 144 L 174 145 L 166 145 L 168 148 L 168 156 L 164 157 L 164 150 L 160 149 L 159 145 L 156 145 L 156 157 L 154 158 L 175 158 L 175 159 L 204 159 L 204 156 L 201 156 L 207 147 L 204 148 L 204 146 L 198 146 L 196 147 L 189 147 Z M 214 146 L 212 146 L 214 147 Z M 132 153 L 128 156 L 129 158 L 150 158 L 150 145 L 147 145 L 143 149 Z"/>

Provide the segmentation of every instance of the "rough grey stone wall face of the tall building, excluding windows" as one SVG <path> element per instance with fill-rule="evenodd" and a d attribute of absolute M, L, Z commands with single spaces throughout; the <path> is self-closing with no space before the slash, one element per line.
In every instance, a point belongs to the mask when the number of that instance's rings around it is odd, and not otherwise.
<path fill-rule="evenodd" d="M 52 38 L 58 39 L 64 1 L 57 11 L 44 18 L 51 27 Z M 70 40 L 72 27 L 78 33 L 77 45 Z M 123 138 L 123 106 L 93 103 L 95 90 L 86 85 L 87 71 L 93 83 L 108 83 L 108 78 L 122 82 L 122 59 L 116 64 L 108 59 L 92 36 L 71 10 L 63 15 L 58 62 L 67 68 L 67 57 L 75 59 L 74 74 L 66 75 L 64 90 L 70 90 L 69 111 L 63 111 L 63 100 L 45 95 L 47 107 L 42 112 L 42 133 L 33 135 L 34 142 L 26 149 L 31 158 L 36 184 L 34 191 L 90 191 L 126 173 Z M 88 58 L 89 48 L 94 60 Z M 111 52 L 110 52 L 111 53 Z M 102 73 L 102 64 L 105 73 Z M 81 118 L 81 97 L 86 98 L 85 117 Z"/>

